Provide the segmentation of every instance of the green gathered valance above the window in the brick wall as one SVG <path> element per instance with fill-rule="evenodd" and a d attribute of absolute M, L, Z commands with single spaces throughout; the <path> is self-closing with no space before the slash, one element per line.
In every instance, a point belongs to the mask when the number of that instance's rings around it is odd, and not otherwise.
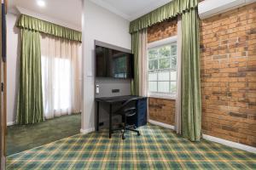
<path fill-rule="evenodd" d="M 183 12 L 186 12 L 191 8 L 196 8 L 197 5 L 198 0 L 173 0 L 152 12 L 143 15 L 137 20 L 131 21 L 130 33 L 153 26 L 158 22 L 175 17 L 177 14 L 183 14 Z"/>

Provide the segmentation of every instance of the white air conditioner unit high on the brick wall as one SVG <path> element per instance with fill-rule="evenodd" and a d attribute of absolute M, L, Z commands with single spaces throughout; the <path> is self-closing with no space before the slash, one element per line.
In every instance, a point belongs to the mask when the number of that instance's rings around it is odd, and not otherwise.
<path fill-rule="evenodd" d="M 249 3 L 256 3 L 256 0 L 205 0 L 198 4 L 198 14 L 203 20 Z"/>

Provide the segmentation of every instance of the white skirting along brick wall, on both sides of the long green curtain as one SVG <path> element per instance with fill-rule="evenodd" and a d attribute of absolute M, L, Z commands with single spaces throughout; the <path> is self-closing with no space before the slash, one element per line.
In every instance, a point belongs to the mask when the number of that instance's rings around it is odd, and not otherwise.
<path fill-rule="evenodd" d="M 168 125 L 166 123 L 156 122 L 156 121 L 153 121 L 153 120 L 148 120 L 148 122 L 150 122 L 151 124 L 154 124 L 154 125 L 158 125 L 160 127 L 171 128 L 172 130 L 175 129 L 174 126 Z M 248 152 L 256 153 L 256 148 L 254 148 L 253 146 L 248 146 L 246 144 L 239 144 L 239 143 L 236 143 L 236 142 L 232 142 L 230 140 L 216 138 L 216 137 L 213 137 L 213 136 L 210 136 L 210 135 L 207 135 L 207 134 L 203 134 L 202 137 L 203 137 L 203 139 L 207 139 L 207 140 L 210 140 L 212 142 L 216 142 L 218 144 L 224 144 L 224 145 L 227 145 L 227 146 L 239 149 L 239 150 L 245 150 L 245 151 L 248 151 Z"/>

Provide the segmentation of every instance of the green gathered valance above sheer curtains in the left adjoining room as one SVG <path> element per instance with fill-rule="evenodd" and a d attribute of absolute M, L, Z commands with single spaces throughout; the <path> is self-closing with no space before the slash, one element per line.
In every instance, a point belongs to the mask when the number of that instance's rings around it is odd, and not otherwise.
<path fill-rule="evenodd" d="M 45 20 L 39 20 L 26 14 L 21 14 L 17 27 L 32 31 L 39 31 L 55 37 L 82 42 L 82 33 L 64 26 L 59 26 Z"/>

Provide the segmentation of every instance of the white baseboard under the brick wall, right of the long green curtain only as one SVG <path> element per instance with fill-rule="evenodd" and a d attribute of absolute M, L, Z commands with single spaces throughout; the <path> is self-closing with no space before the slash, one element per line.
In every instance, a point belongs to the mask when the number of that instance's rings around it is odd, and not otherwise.
<path fill-rule="evenodd" d="M 232 142 L 230 140 L 220 139 L 220 138 L 213 137 L 213 136 L 210 136 L 207 134 L 203 134 L 203 139 L 207 139 L 212 142 L 216 142 L 218 144 L 224 144 L 224 145 L 236 148 L 236 149 L 246 150 L 248 152 L 256 153 L 256 148 L 254 148 L 253 146 L 246 145 L 246 144 L 239 144 L 236 142 Z"/>

